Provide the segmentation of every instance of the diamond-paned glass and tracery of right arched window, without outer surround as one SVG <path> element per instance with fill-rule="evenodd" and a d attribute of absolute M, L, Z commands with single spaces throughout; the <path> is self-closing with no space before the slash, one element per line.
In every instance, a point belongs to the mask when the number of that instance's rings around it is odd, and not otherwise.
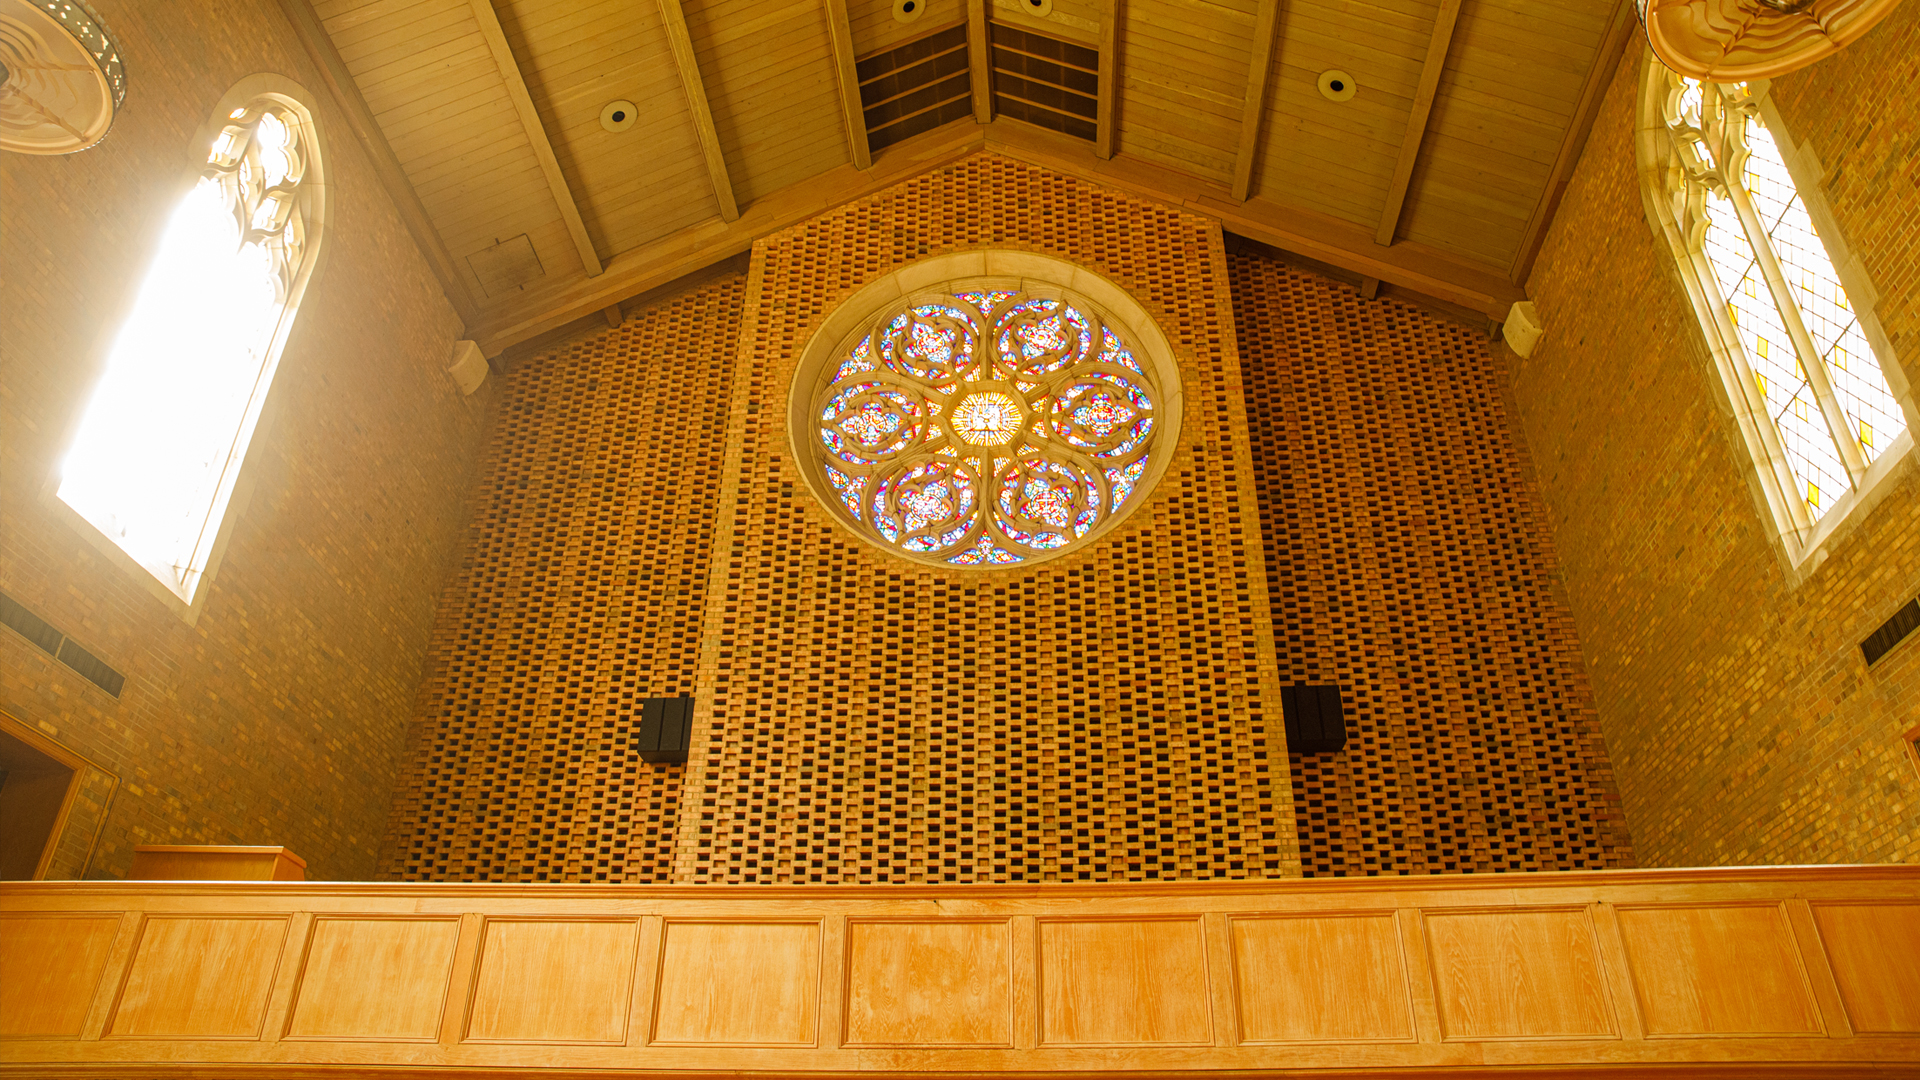
<path fill-rule="evenodd" d="M 1763 469 L 1784 473 L 1791 525 L 1807 528 L 1862 484 L 1905 413 L 1749 86 L 1655 79 L 1665 194 L 1740 346 L 1730 390 L 1763 417 Z"/>

